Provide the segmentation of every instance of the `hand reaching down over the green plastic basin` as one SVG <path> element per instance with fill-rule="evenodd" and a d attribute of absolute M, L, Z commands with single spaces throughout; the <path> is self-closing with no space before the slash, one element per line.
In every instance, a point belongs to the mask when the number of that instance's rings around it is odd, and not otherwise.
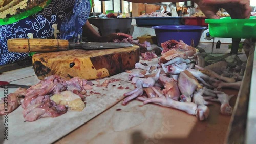
<path fill-rule="evenodd" d="M 249 18 L 251 13 L 250 0 L 194 0 L 206 17 L 220 19 L 216 13 L 219 8 L 225 9 L 231 18 Z"/>

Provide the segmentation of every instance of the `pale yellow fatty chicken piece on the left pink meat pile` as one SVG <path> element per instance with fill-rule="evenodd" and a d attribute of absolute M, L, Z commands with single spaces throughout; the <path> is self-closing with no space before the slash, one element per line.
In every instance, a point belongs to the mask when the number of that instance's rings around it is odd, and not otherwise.
<path fill-rule="evenodd" d="M 54 94 L 50 99 L 57 105 L 65 105 L 75 111 L 82 111 L 83 108 L 86 107 L 81 97 L 71 91 L 63 91 L 61 93 Z"/>

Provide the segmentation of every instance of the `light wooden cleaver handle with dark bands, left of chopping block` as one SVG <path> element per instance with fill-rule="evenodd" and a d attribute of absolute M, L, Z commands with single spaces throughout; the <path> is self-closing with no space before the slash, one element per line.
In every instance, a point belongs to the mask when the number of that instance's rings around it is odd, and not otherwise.
<path fill-rule="evenodd" d="M 69 49 L 68 40 L 60 39 L 8 39 L 7 47 L 10 52 L 51 52 Z"/>

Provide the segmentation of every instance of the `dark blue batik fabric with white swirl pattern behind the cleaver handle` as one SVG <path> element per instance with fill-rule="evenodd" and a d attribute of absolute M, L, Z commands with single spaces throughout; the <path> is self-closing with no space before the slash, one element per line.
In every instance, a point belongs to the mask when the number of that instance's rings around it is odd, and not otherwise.
<path fill-rule="evenodd" d="M 81 42 L 82 26 L 90 14 L 90 0 L 52 0 L 42 11 L 18 22 L 0 25 L 0 65 L 28 57 L 7 49 L 11 38 L 51 38 Z"/>

